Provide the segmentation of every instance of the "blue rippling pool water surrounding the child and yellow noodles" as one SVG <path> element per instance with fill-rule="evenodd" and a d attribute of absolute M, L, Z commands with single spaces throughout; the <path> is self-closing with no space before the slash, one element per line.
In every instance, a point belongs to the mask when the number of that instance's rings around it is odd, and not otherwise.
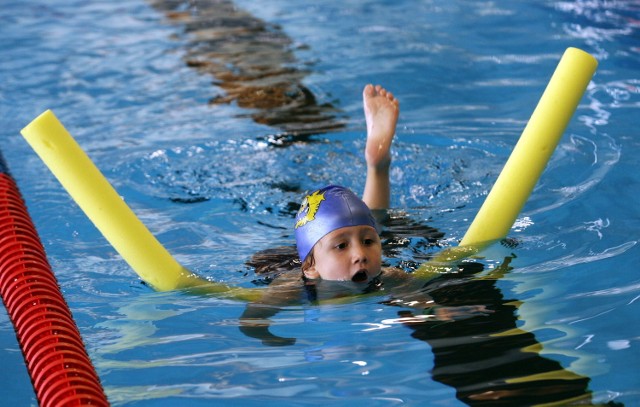
<path fill-rule="evenodd" d="M 296 344 L 264 346 L 238 329 L 245 304 L 139 282 L 19 136 L 38 114 L 55 111 L 181 263 L 249 287 L 245 262 L 292 244 L 300 191 L 362 189 L 365 83 L 401 102 L 394 210 L 455 245 L 569 46 L 596 56 L 598 72 L 510 233 L 517 247 L 478 262 L 491 270 L 515 255 L 491 289 L 518 304 L 511 322 L 535 338 L 537 360 L 589 378 L 594 404 L 640 405 L 637 1 L 239 0 L 242 18 L 213 18 L 218 31 L 184 22 L 204 3 L 155 3 L 0 8 L 1 148 L 113 405 L 464 405 L 456 379 L 487 363 L 506 369 L 517 344 L 502 356 L 471 346 L 488 354 L 471 363 L 477 355 L 447 344 L 472 344 L 472 324 L 410 329 L 402 307 L 363 297 L 285 307 L 271 330 Z M 252 32 L 268 52 L 238 40 Z M 239 51 L 222 53 L 227 44 Z M 195 67 L 203 59 L 217 77 Z M 311 130 L 291 130 L 309 128 L 296 123 L 300 110 L 218 103 L 235 89 L 223 74 L 262 65 L 289 69 L 315 96 Z M 286 123 L 265 119 L 273 112 Z M 387 261 L 438 250 L 421 242 Z M 35 405 L 4 311 L 0 348 L 0 404 Z"/>

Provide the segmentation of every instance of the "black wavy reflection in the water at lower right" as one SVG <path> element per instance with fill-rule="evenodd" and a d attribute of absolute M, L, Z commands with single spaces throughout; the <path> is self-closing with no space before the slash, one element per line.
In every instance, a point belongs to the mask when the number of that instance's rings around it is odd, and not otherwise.
<path fill-rule="evenodd" d="M 508 262 L 498 273 L 508 271 Z M 518 301 L 504 298 L 496 286 L 500 275 L 473 278 L 482 265 L 466 266 L 430 281 L 424 293 L 438 307 L 483 305 L 491 313 L 437 323 L 413 311 L 398 312 L 411 336 L 431 347 L 433 379 L 456 389 L 456 397 L 470 406 L 592 405 L 590 379 L 540 355 L 535 336 L 517 328 Z"/>

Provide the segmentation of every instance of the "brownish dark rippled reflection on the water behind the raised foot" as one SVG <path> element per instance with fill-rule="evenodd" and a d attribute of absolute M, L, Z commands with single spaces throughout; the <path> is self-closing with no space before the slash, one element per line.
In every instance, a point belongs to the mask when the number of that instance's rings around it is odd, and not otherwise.
<path fill-rule="evenodd" d="M 229 0 L 149 0 L 188 34 L 187 65 L 214 77 L 225 95 L 212 105 L 236 103 L 283 138 L 326 133 L 344 127 L 341 113 L 318 102 L 302 82 L 309 74 L 294 54 L 292 40 L 274 24 L 237 8 Z"/>

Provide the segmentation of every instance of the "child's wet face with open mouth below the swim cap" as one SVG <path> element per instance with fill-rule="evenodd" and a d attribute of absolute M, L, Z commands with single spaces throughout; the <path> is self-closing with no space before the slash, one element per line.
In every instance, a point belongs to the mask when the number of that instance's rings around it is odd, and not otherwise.
<path fill-rule="evenodd" d="M 382 246 L 371 226 L 349 226 L 330 232 L 313 247 L 315 263 L 308 278 L 368 283 L 378 274 Z"/>

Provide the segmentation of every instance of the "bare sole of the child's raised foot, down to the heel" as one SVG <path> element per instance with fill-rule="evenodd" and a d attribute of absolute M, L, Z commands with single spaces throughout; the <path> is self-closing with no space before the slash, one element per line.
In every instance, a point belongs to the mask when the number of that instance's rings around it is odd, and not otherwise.
<path fill-rule="evenodd" d="M 389 167 L 391 141 L 396 132 L 400 103 L 380 85 L 367 85 L 362 92 L 367 121 L 365 159 L 373 168 Z"/>

